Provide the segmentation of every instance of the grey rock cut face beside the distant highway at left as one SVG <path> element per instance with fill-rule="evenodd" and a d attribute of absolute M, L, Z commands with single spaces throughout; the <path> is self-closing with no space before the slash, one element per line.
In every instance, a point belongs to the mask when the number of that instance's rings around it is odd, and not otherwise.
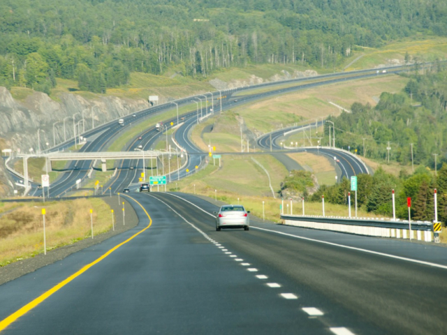
<path fill-rule="evenodd" d="M 59 101 L 53 101 L 47 94 L 34 92 L 19 102 L 14 100 L 8 89 L 0 87 L 0 137 L 3 140 L 0 141 L 0 149 L 13 149 L 22 153 L 36 152 L 39 145 L 42 150 L 47 149 L 54 143 L 59 144 L 73 137 L 73 116 L 78 133 L 78 125 L 82 132 L 82 113 L 87 131 L 92 122 L 99 126 L 149 107 L 149 103 L 142 99 L 127 100 L 112 96 L 87 100 L 76 94 L 61 94 L 58 98 Z M 39 128 L 41 131 L 38 131 Z M 5 175 L 3 165 L 0 174 Z M 9 193 L 12 191 L 10 188 Z M 3 192 L 0 188 L 0 195 L 7 195 L 4 188 Z"/>

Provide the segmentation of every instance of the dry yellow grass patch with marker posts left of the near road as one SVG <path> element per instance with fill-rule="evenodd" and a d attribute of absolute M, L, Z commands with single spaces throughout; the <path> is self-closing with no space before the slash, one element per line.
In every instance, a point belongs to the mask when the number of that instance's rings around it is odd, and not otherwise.
<path fill-rule="evenodd" d="M 112 228 L 110 207 L 98 198 L 71 201 L 16 203 L 0 202 L 0 267 L 43 253 L 43 216 L 47 251 L 91 237 L 90 209 L 94 234 Z"/>

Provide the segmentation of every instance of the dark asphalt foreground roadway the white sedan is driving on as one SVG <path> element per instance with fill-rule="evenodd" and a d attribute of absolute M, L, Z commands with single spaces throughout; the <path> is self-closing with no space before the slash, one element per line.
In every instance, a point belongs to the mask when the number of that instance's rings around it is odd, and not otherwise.
<path fill-rule="evenodd" d="M 447 248 L 273 225 L 215 230 L 193 195 L 0 285 L 2 334 L 444 334 Z M 24 307 L 25 306 L 25 307 Z"/>

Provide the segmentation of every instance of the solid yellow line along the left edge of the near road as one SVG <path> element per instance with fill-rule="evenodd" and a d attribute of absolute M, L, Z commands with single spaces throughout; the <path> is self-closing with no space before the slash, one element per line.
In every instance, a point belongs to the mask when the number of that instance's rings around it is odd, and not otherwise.
<path fill-rule="evenodd" d="M 124 195 L 128 198 L 131 198 L 129 195 Z M 74 278 L 80 276 L 81 274 L 83 274 L 85 271 L 87 271 L 88 269 L 90 269 L 91 267 L 93 267 L 96 263 L 101 262 L 101 260 L 103 260 L 104 258 L 106 258 L 108 255 L 110 255 L 110 253 L 112 253 L 113 251 L 117 250 L 117 248 L 119 248 L 120 246 L 122 246 L 123 244 L 126 244 L 127 242 L 131 241 L 131 239 L 133 239 L 134 237 L 138 236 L 139 234 L 141 234 L 142 232 L 144 232 L 145 230 L 147 230 L 147 228 L 149 228 L 152 225 L 152 218 L 149 216 L 149 214 L 147 213 L 145 207 L 142 207 L 142 204 L 140 204 L 140 202 L 138 202 L 137 200 L 131 198 L 133 201 L 135 201 L 137 204 L 140 205 L 140 207 L 142 208 L 143 211 L 145 211 L 147 217 L 149 218 L 149 225 L 147 225 L 146 228 L 140 230 L 139 232 L 137 232 L 136 234 L 134 234 L 133 236 L 129 237 L 129 239 L 126 239 L 126 241 L 118 244 L 117 246 L 111 248 L 107 253 L 105 253 L 104 255 L 102 255 L 100 258 L 97 258 L 96 260 L 94 260 L 93 262 L 91 262 L 90 264 L 85 265 L 85 267 L 82 267 L 82 269 L 80 269 L 78 272 L 75 272 L 75 274 L 72 274 L 71 276 L 69 276 L 68 278 L 66 278 L 64 281 L 61 281 L 61 283 L 57 284 L 56 286 L 54 286 L 53 288 L 51 288 L 50 290 L 47 290 L 47 292 L 43 293 L 42 295 L 40 295 L 39 297 L 37 297 L 36 299 L 34 299 L 33 301 L 29 302 L 28 304 L 26 304 L 25 306 L 23 306 L 22 308 L 20 308 L 19 310 L 15 311 L 13 314 L 9 315 L 8 318 L 2 320 L 0 322 L 0 332 L 5 329 L 6 327 L 8 327 L 11 323 L 13 323 L 15 320 L 17 320 L 18 318 L 20 318 L 22 315 L 28 313 L 29 311 L 31 311 L 31 309 L 33 309 L 34 307 L 36 307 L 38 304 L 40 304 L 42 301 L 44 301 L 45 299 L 47 299 L 48 297 L 50 297 L 53 293 L 57 292 L 58 290 L 60 290 L 61 288 L 63 288 L 65 285 L 67 285 L 68 283 L 70 283 L 71 281 L 73 281 Z"/>

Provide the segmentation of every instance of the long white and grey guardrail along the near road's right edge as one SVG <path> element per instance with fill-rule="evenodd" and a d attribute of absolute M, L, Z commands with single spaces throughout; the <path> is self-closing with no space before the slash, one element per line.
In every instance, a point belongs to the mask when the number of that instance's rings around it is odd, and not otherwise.
<path fill-rule="evenodd" d="M 281 214 L 285 225 L 301 228 L 331 230 L 377 237 L 409 239 L 408 221 L 389 221 L 386 219 L 342 218 L 335 216 L 296 216 Z M 416 236 L 415 236 L 416 235 Z M 428 221 L 411 221 L 411 239 L 433 241 L 433 223 Z"/>

